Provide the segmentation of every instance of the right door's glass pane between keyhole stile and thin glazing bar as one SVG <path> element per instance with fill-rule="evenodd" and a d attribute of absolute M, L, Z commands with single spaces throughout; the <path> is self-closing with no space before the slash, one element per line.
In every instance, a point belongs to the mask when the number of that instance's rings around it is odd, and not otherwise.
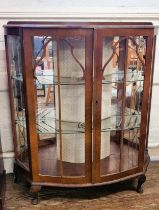
<path fill-rule="evenodd" d="M 120 169 L 124 60 L 119 63 L 119 40 L 118 36 L 104 37 L 102 43 L 101 175 L 117 173 Z"/>

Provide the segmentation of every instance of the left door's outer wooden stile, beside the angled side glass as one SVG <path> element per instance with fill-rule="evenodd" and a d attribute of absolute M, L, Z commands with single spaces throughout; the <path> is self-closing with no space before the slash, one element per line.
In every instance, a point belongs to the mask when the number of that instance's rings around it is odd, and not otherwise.
<path fill-rule="evenodd" d="M 35 97 L 35 84 L 33 80 L 32 69 L 32 42 L 31 31 L 23 31 L 23 49 L 24 49 L 24 77 L 26 87 L 26 120 L 27 120 L 27 134 L 30 145 L 30 159 L 31 159 L 31 171 L 33 182 L 39 180 L 39 160 L 38 160 L 38 138 L 36 133 L 36 97 Z"/>

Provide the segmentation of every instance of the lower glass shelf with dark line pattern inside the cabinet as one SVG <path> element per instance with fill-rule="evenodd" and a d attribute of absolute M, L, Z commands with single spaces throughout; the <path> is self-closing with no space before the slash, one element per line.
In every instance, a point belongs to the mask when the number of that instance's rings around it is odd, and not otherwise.
<path fill-rule="evenodd" d="M 37 132 L 39 134 L 59 134 L 57 129 L 59 121 L 55 120 L 55 111 L 52 108 L 41 110 L 38 114 L 37 119 Z M 125 125 L 123 130 L 134 129 L 140 127 L 141 113 L 130 110 L 129 108 L 125 111 Z M 112 115 L 102 120 L 102 132 L 118 131 L 122 130 L 121 127 L 122 115 L 120 112 L 117 115 Z M 19 117 L 16 123 L 26 128 L 25 119 Z M 69 122 L 61 121 L 61 132 L 62 134 L 77 134 L 85 133 L 84 122 Z"/>

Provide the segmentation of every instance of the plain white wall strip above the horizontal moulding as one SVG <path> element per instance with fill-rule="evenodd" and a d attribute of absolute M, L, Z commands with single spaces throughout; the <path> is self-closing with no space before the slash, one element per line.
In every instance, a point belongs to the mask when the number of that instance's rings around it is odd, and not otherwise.
<path fill-rule="evenodd" d="M 8 0 L 4 1 L 1 0 L 1 9 L 4 10 L 12 10 L 16 11 L 18 9 L 22 10 L 23 8 L 25 10 L 39 10 L 39 9 L 67 9 L 67 8 L 82 8 L 85 9 L 86 7 L 92 7 L 92 8 L 98 8 L 103 9 L 103 11 L 107 8 L 126 8 L 128 10 L 132 8 L 136 8 L 137 10 L 141 10 L 143 8 L 151 9 L 151 10 L 157 10 L 159 8 L 158 0 L 111 0 L 111 1 L 105 1 L 105 0 Z M 74 11 L 74 10 L 72 10 Z"/>

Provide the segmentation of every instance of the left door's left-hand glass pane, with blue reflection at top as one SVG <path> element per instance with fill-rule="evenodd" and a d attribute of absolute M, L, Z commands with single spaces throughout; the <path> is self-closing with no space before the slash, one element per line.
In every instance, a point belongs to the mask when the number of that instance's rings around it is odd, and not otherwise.
<path fill-rule="evenodd" d="M 56 42 L 51 37 L 33 38 L 33 73 L 37 95 L 36 125 L 39 146 L 39 173 L 60 176 L 57 161 L 54 57 Z"/>

